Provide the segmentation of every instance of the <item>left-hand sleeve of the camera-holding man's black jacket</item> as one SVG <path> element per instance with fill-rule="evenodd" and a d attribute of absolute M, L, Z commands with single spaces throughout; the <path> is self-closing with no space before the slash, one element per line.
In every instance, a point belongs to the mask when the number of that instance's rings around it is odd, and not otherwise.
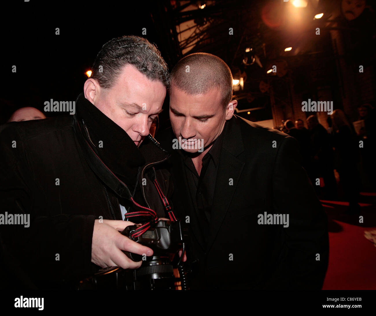
<path fill-rule="evenodd" d="M 21 269 L 34 277 L 35 284 L 38 279 L 67 280 L 90 274 L 95 216 L 56 215 L 56 210 L 35 209 L 34 192 L 39 188 L 33 182 L 34 170 L 27 153 L 27 140 L 17 128 L 0 127 L 1 213 L 30 214 L 29 227 L 0 225 L 2 252 L 11 254 L 3 255 L 2 264 L 15 270 L 16 258 Z M 51 185 L 55 185 L 55 178 L 51 175 Z M 14 274 L 16 278 L 20 275 L 18 271 Z"/>

